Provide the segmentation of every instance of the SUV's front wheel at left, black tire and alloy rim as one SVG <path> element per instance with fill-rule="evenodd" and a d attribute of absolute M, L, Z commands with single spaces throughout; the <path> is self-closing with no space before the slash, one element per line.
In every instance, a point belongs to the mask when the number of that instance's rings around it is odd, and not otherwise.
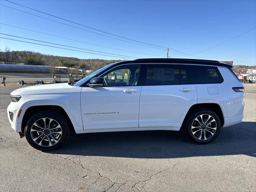
<path fill-rule="evenodd" d="M 54 150 L 67 140 L 68 122 L 55 112 L 39 112 L 28 120 L 25 136 L 28 143 L 37 150 Z"/>

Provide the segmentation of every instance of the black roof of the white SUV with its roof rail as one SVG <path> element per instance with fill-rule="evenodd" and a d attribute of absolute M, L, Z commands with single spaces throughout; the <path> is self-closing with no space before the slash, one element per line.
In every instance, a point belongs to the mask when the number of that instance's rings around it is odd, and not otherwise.
<path fill-rule="evenodd" d="M 124 61 L 120 63 L 122 64 L 126 64 L 126 63 L 127 64 L 128 63 L 201 64 L 201 65 L 224 66 L 224 67 L 232 68 L 232 65 L 230 64 L 215 61 L 215 60 L 183 59 L 183 58 L 144 58 L 144 59 L 136 59 L 133 61 Z"/>

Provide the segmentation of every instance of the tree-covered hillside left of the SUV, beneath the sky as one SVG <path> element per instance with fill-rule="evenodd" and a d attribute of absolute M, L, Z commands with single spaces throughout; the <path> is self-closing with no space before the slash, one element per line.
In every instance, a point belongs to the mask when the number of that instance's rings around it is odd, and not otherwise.
<path fill-rule="evenodd" d="M 0 51 L 1 64 L 49 65 L 97 70 L 107 64 L 118 61 L 121 60 L 78 59 L 74 57 L 45 55 L 32 51 L 10 51 L 8 48 Z"/>

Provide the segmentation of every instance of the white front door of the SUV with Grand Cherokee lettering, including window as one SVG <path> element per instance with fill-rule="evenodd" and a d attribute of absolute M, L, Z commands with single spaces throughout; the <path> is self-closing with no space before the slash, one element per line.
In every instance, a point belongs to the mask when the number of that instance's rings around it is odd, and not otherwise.
<path fill-rule="evenodd" d="M 83 87 L 81 112 L 84 130 L 138 128 L 140 65 L 117 66 L 105 74 L 103 87 Z"/>

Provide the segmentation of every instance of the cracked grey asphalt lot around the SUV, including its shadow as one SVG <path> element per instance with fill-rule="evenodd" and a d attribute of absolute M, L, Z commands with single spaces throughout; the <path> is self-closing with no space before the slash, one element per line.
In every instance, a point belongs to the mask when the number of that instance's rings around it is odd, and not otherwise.
<path fill-rule="evenodd" d="M 72 134 L 53 152 L 12 130 L 0 88 L 0 191 L 256 191 L 256 84 L 245 84 L 243 122 L 207 145 L 179 132 Z"/>

